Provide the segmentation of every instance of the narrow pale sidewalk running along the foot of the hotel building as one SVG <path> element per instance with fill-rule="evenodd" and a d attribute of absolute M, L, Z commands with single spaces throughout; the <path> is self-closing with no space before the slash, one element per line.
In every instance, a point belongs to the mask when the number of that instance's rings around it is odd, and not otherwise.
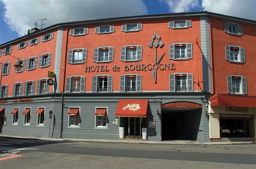
<path fill-rule="evenodd" d="M 218 142 L 200 142 L 190 140 L 172 140 L 172 141 L 147 141 L 134 139 L 116 139 L 116 140 L 100 140 L 100 139 L 79 139 L 79 138 L 44 138 L 44 137 L 24 137 L 0 135 L 0 137 L 12 137 L 22 139 L 38 139 L 45 141 L 76 141 L 76 142 L 101 142 L 101 143 L 129 143 L 129 144 L 176 144 L 176 145 L 232 145 L 232 144 L 256 144 L 255 141 L 218 141 Z"/>

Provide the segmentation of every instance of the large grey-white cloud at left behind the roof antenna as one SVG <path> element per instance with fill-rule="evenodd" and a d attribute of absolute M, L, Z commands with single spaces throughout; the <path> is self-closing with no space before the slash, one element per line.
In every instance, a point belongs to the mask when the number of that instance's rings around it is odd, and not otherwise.
<path fill-rule="evenodd" d="M 143 15 L 142 0 L 2 0 L 4 21 L 20 36 L 47 18 L 44 27 L 61 22 Z M 41 22 L 38 21 L 38 25 Z M 38 26 L 39 27 L 39 26 Z M 40 28 L 40 27 L 39 27 Z"/>

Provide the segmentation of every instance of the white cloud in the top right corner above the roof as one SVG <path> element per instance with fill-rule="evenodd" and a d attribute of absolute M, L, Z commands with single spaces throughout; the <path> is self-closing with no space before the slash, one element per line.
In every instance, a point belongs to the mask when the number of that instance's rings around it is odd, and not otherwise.
<path fill-rule="evenodd" d="M 256 20 L 255 0 L 203 0 L 205 11 Z"/>

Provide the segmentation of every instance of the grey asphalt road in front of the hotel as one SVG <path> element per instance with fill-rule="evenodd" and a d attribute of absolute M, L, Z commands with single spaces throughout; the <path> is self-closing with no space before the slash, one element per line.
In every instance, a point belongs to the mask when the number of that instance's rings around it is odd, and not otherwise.
<path fill-rule="evenodd" d="M 0 137 L 0 169 L 256 168 L 256 145 L 60 142 Z"/>

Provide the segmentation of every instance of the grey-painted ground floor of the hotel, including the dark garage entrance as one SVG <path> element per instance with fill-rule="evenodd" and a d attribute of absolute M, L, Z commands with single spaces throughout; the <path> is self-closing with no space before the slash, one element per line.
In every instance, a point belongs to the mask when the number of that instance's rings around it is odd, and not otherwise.
<path fill-rule="evenodd" d="M 63 96 L 63 108 L 62 108 Z M 206 115 L 208 93 L 84 93 L 47 94 L 8 98 L 0 105 L 4 108 L 3 135 L 54 138 L 117 139 L 119 124 L 125 124 L 125 137 L 140 138 L 142 123 L 147 125 L 149 140 L 209 140 L 209 119 Z M 24 99 L 22 102 L 22 100 Z M 148 100 L 147 116 L 116 117 L 118 100 Z M 16 101 L 15 101 L 16 100 Z M 18 100 L 18 101 L 17 101 Z M 21 101 L 21 102 L 20 102 Z M 198 108 L 171 106 L 182 102 L 200 105 Z M 17 114 L 14 115 L 14 109 Z M 30 110 L 30 117 L 26 113 Z M 44 109 L 44 116 L 38 113 Z M 68 115 L 70 109 L 79 109 L 79 116 Z M 106 109 L 106 121 L 97 117 L 97 109 Z M 53 111 L 52 119 L 49 111 Z M 13 114 L 11 114 L 11 112 Z M 3 114 L 3 113 L 2 113 Z M 29 119 L 28 119 L 29 118 Z M 50 130 L 50 132 L 49 132 Z"/>

